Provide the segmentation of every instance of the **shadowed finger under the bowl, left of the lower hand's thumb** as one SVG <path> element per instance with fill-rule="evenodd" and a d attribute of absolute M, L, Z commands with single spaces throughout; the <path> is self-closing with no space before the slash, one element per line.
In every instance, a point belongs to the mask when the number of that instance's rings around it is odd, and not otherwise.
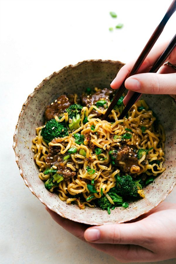
<path fill-rule="evenodd" d="M 77 238 L 85 241 L 84 238 L 84 231 L 87 229 L 88 225 L 85 224 L 79 224 L 77 222 L 71 221 L 69 219 L 63 218 L 62 216 L 56 214 L 55 212 L 51 211 L 48 207 L 46 207 L 46 210 L 50 214 L 50 216 L 53 218 L 54 221 L 56 221 L 57 224 L 62 226 L 65 230 L 72 233 Z"/>

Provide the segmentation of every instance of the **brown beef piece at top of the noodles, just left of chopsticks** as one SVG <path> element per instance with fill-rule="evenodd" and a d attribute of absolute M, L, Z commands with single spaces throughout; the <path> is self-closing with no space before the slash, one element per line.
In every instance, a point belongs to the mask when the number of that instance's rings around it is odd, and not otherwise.
<path fill-rule="evenodd" d="M 92 105 L 92 104 L 96 104 L 97 101 L 99 100 L 106 100 L 107 102 L 110 102 L 110 95 L 112 95 L 114 93 L 113 90 L 111 89 L 101 89 L 98 92 L 89 95 L 89 98 L 87 97 L 87 94 L 83 93 L 81 96 L 81 101 L 82 101 L 82 105 L 83 106 L 87 106 L 88 108 Z M 104 110 L 103 106 L 99 106 L 99 109 Z M 100 113 L 98 113 L 95 109 L 93 109 L 91 111 L 91 114 L 97 114 L 97 117 L 101 116 Z"/>

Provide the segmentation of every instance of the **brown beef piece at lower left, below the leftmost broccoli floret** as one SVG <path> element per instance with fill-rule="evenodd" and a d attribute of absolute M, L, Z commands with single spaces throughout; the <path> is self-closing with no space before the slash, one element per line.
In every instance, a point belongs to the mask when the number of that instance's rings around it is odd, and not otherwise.
<path fill-rule="evenodd" d="M 54 141 L 54 139 L 53 139 L 53 141 Z M 71 177 L 76 175 L 76 172 L 72 171 L 71 168 L 67 167 L 66 166 L 67 164 L 65 164 L 65 162 L 63 161 L 59 146 L 50 146 L 49 147 L 49 153 L 48 153 L 45 161 L 48 163 L 49 167 L 52 167 L 53 165 L 55 165 L 57 167 L 57 173 L 61 174 L 65 180 L 68 180 Z M 71 162 L 71 160 L 68 159 L 67 163 L 68 162 Z M 71 163 L 71 164 L 73 165 L 73 167 L 75 167 L 74 163 Z"/>

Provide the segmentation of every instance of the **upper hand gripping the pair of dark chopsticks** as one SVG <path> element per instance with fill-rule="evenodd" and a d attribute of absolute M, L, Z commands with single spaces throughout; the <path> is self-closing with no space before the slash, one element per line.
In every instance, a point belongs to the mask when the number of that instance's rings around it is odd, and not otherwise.
<path fill-rule="evenodd" d="M 170 94 L 176 99 L 176 70 L 173 67 L 162 65 L 158 73 L 149 73 L 149 70 L 167 44 L 168 43 L 164 43 L 154 47 L 139 68 L 139 74 L 130 76 L 126 79 L 125 87 L 130 91 L 123 100 L 125 105 L 133 94 L 131 91 L 143 94 Z M 176 66 L 176 47 L 172 50 L 167 60 L 172 65 Z M 119 89 L 134 63 L 135 61 L 129 62 L 119 70 L 116 78 L 111 83 L 111 88 Z"/>

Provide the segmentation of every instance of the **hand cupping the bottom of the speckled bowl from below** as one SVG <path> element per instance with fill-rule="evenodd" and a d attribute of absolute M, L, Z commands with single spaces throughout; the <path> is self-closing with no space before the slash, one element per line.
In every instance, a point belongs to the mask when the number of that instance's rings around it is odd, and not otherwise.
<path fill-rule="evenodd" d="M 163 202 L 135 222 L 92 227 L 46 209 L 65 230 L 121 262 L 176 258 L 176 204 Z"/>

